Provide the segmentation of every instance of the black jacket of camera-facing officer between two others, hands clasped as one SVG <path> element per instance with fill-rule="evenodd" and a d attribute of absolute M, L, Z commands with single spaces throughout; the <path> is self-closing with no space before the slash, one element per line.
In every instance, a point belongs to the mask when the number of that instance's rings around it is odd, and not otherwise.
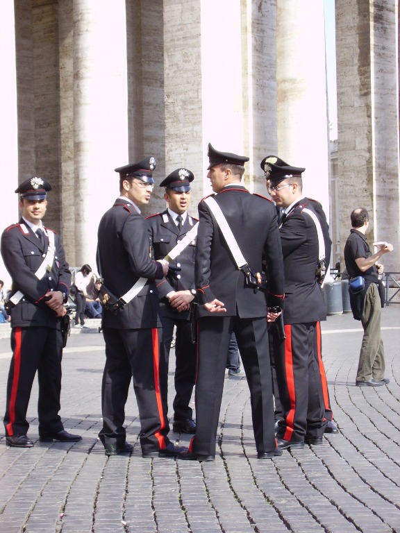
<path fill-rule="evenodd" d="M 189 215 L 185 219 L 185 223 L 181 230 L 178 230 L 176 223 L 172 220 L 168 210 L 163 213 L 153 214 L 147 217 L 149 223 L 151 240 L 153 242 L 153 251 L 155 259 L 164 259 L 165 255 L 169 253 L 176 244 L 185 237 L 196 224 L 197 219 Z M 173 273 L 168 273 L 166 278 L 157 281 L 158 296 L 165 298 L 171 291 L 185 291 L 194 289 L 194 254 L 196 252 L 196 239 L 192 240 L 188 246 L 176 257 L 171 263 L 172 267 L 178 267 L 181 270 Z M 166 301 L 161 300 L 163 316 L 178 317 L 179 319 L 187 319 L 189 312 L 179 313 L 169 305 Z"/>

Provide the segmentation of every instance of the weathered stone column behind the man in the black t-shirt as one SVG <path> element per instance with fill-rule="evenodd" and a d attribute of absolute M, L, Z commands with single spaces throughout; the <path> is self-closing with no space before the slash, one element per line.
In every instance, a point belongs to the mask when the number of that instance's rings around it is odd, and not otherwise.
<path fill-rule="evenodd" d="M 350 213 L 366 208 L 367 239 L 392 242 L 386 271 L 399 271 L 397 1 L 336 1 L 340 244 Z"/>

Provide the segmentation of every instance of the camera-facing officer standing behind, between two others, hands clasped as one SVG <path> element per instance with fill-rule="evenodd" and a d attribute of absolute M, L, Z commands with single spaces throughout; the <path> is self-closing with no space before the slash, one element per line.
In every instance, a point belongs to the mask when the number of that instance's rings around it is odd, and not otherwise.
<path fill-rule="evenodd" d="M 176 169 L 160 187 L 165 187 L 164 199 L 168 208 L 162 213 L 147 218 L 153 242 L 154 257 L 163 259 L 176 244 L 197 224 L 190 217 L 190 182 L 194 176 L 188 169 Z M 194 299 L 194 252 L 196 240 L 170 264 L 167 276 L 158 282 L 163 338 L 167 355 L 171 348 L 176 326 L 176 367 L 174 398 L 174 424 L 176 432 L 194 433 L 196 423 L 189 406 L 196 379 L 196 345 L 192 343 L 192 328 L 189 321 L 190 303 Z M 172 269 L 171 269 L 172 267 Z"/>

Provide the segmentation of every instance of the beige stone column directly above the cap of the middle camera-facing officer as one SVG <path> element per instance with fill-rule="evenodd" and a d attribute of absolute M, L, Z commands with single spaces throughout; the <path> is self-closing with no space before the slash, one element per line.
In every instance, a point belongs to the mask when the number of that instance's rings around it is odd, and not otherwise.
<path fill-rule="evenodd" d="M 189 211 L 194 217 L 204 176 L 200 4 L 164 1 L 165 174 L 179 167 L 193 172 Z"/>

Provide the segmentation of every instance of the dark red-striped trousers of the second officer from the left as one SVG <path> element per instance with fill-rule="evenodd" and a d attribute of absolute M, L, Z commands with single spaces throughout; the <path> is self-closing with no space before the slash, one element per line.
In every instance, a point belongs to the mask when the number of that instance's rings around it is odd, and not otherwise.
<path fill-rule="evenodd" d="M 125 404 L 133 378 L 142 451 L 162 450 L 169 443 L 167 405 L 162 394 L 163 388 L 167 387 L 162 330 L 103 328 L 103 335 L 106 365 L 101 387 L 101 442 L 108 449 L 124 447 Z"/>

